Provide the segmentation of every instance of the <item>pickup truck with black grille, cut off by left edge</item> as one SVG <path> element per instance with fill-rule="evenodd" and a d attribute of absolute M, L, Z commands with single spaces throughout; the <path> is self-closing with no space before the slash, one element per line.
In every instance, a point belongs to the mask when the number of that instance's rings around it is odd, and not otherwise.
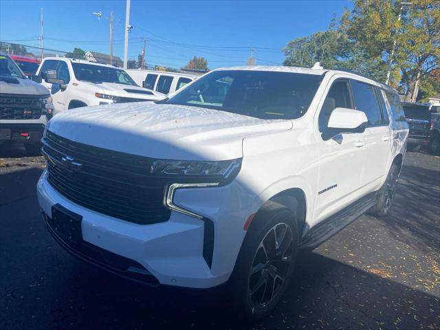
<path fill-rule="evenodd" d="M 0 52 L 0 145 L 24 142 L 28 153 L 38 154 L 52 113 L 50 92 L 27 78 L 7 54 Z"/>

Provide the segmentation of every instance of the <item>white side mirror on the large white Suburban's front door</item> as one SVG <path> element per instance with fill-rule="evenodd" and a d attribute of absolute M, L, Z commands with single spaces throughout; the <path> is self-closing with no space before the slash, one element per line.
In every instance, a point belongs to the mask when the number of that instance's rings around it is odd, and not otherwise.
<path fill-rule="evenodd" d="M 331 111 L 329 118 L 329 129 L 338 129 L 340 132 L 353 131 L 353 129 L 360 129 L 364 124 L 369 122 L 366 114 L 363 111 L 336 108 Z"/>

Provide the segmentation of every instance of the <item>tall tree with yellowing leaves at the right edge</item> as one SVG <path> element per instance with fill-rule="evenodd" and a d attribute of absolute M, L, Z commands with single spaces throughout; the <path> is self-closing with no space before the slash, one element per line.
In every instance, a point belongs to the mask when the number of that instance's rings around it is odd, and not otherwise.
<path fill-rule="evenodd" d="M 388 62 L 395 40 L 395 83 L 400 78 L 406 100 L 414 102 L 421 80 L 438 67 L 440 2 L 413 0 L 412 5 L 404 7 L 400 2 L 355 0 L 353 10 L 344 13 L 339 30 L 347 34 L 364 58 L 376 63 Z M 383 64 L 378 68 L 386 72 Z"/>

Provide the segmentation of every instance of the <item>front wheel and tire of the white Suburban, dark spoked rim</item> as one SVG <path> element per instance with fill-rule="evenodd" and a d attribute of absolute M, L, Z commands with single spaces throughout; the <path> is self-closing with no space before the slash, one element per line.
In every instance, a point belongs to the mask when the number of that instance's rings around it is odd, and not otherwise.
<path fill-rule="evenodd" d="M 298 237 L 294 213 L 285 206 L 269 201 L 256 214 L 229 283 L 233 312 L 239 318 L 265 318 L 279 303 L 292 278 Z"/>

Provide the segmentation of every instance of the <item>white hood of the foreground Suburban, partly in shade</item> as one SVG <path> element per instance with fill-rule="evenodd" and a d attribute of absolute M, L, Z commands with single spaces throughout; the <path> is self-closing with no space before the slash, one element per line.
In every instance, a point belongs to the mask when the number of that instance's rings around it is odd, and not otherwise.
<path fill-rule="evenodd" d="M 292 129 L 292 121 L 136 102 L 64 111 L 47 129 L 75 142 L 146 157 L 224 160 L 243 157 L 244 137 Z"/>

